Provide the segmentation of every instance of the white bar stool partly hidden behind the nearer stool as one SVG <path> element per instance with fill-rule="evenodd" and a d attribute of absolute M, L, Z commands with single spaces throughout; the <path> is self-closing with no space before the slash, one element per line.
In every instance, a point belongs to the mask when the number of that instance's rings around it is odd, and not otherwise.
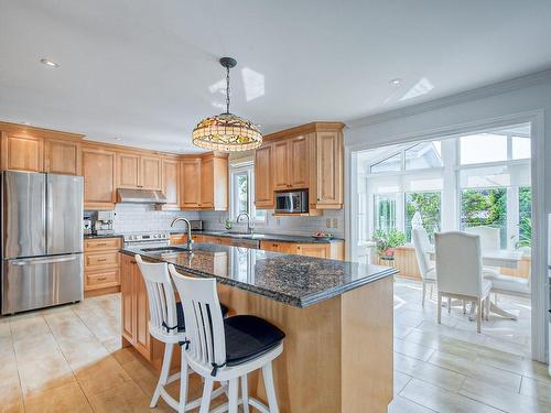
<path fill-rule="evenodd" d="M 134 258 L 140 269 L 140 273 L 143 276 L 143 281 L 145 282 L 145 290 L 148 292 L 150 313 L 149 333 L 159 341 L 165 344 L 163 365 L 155 391 L 151 398 L 150 407 L 155 407 L 161 396 L 171 407 L 179 412 L 195 409 L 201 404 L 201 399 L 187 403 L 186 405 L 185 392 L 187 388 L 185 387 L 187 385 L 187 380 L 182 380 L 180 383 L 180 393 L 184 394 L 184 398 L 180 398 L 180 401 L 171 396 L 165 390 L 168 384 L 181 379 L 180 372 L 170 376 L 170 368 L 174 345 L 184 343 L 186 337 L 184 312 L 182 304 L 176 303 L 168 264 L 165 262 L 144 262 L 139 254 L 136 254 Z M 228 307 L 220 305 L 220 313 L 225 315 L 227 312 Z M 185 363 L 184 359 L 185 357 L 182 357 L 182 365 Z M 185 371 L 187 371 L 187 368 Z M 224 392 L 224 389 L 216 390 L 216 395 Z M 213 393 L 213 398 L 216 395 Z"/>

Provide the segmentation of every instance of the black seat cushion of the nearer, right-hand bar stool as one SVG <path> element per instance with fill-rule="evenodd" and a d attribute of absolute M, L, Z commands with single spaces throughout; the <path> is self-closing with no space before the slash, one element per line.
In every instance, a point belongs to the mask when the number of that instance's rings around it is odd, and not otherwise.
<path fill-rule="evenodd" d="M 249 361 L 277 347 L 285 334 L 266 319 L 236 315 L 224 319 L 226 366 Z"/>

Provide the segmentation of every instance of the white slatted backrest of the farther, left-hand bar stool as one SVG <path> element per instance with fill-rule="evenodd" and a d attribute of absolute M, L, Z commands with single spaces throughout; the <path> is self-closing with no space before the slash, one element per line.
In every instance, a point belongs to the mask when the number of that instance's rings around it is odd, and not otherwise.
<path fill-rule="evenodd" d="M 136 254 L 136 262 L 140 269 L 149 302 L 149 329 L 153 337 L 177 334 L 176 298 L 165 262 L 144 262 Z"/>

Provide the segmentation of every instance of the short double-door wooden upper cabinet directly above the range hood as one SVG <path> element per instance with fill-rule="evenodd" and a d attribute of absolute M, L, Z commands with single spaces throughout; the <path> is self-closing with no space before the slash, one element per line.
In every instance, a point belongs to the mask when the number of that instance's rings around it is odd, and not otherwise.
<path fill-rule="evenodd" d="M 161 157 L 136 153 L 117 153 L 117 187 L 161 189 Z"/>

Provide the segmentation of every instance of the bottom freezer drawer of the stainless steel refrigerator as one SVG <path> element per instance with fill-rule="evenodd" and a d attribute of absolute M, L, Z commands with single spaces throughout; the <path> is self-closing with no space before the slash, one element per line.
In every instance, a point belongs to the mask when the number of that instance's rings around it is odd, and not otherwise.
<path fill-rule="evenodd" d="M 83 300 L 83 254 L 4 260 L 2 314 Z"/>

